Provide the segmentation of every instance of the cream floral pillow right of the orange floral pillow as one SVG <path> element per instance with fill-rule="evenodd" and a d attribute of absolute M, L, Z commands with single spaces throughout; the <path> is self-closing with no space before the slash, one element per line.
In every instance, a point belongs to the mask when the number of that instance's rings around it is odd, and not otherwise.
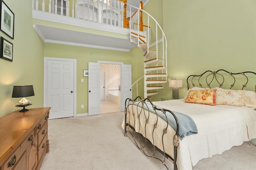
<path fill-rule="evenodd" d="M 216 88 L 216 104 L 244 106 L 244 91 L 245 90 L 226 90 Z"/>

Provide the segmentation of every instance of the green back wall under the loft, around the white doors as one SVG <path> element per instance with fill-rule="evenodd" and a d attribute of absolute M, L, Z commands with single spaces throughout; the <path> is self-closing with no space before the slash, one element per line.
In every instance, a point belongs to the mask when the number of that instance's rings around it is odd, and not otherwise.
<path fill-rule="evenodd" d="M 92 53 L 92 55 L 91 55 Z M 138 66 L 143 63 L 143 54 L 138 47 L 130 52 L 113 51 L 105 49 L 96 49 L 88 47 L 78 47 L 72 45 L 61 45 L 53 43 L 44 44 L 44 57 L 77 59 L 77 113 L 88 113 L 88 78 L 83 77 L 83 70 L 88 70 L 88 62 L 97 63 L 98 61 L 114 61 L 123 62 L 124 64 L 132 64 L 132 82 L 143 76 L 143 67 Z M 138 58 L 140 57 L 138 62 Z M 136 61 L 136 60 L 137 61 Z M 139 73 L 137 70 L 141 70 Z M 84 82 L 81 82 L 81 78 Z M 143 90 L 142 90 L 143 94 Z M 84 108 L 81 108 L 81 105 Z"/>

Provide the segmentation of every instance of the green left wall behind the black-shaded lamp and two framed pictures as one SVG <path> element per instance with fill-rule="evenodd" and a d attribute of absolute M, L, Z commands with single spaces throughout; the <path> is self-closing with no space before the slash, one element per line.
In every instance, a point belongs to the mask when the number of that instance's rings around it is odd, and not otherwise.
<path fill-rule="evenodd" d="M 14 39 L 2 31 L 0 36 L 13 44 L 13 61 L 0 59 L 0 117 L 14 111 L 20 98 L 12 98 L 14 85 L 32 84 L 32 107 L 43 106 L 43 47 L 32 25 L 32 0 L 4 0 L 14 13 Z M 17 109 L 21 109 L 20 107 Z"/>

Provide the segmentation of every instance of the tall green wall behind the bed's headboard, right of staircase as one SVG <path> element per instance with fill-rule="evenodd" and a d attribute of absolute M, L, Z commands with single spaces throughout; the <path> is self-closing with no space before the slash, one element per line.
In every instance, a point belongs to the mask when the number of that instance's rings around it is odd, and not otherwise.
<path fill-rule="evenodd" d="M 191 74 L 256 72 L 255 0 L 163 0 L 163 26 L 168 76 L 183 79 L 180 98 Z M 159 96 L 170 98 L 171 91 L 167 87 Z"/>

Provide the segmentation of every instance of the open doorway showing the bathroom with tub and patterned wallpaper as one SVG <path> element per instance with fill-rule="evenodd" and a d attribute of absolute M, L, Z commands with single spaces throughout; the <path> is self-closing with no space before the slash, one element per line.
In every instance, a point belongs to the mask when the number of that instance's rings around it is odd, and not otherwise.
<path fill-rule="evenodd" d="M 120 64 L 100 64 L 100 113 L 120 111 Z"/>

